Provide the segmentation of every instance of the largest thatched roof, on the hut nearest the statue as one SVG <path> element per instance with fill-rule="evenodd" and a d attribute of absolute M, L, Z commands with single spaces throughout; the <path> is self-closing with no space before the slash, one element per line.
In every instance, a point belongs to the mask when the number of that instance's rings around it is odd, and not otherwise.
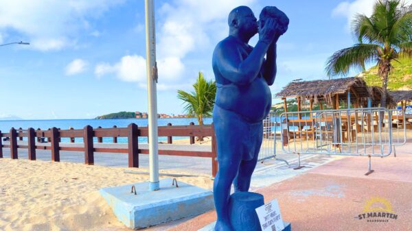
<path fill-rule="evenodd" d="M 351 97 L 352 100 L 356 99 L 356 95 L 363 100 L 369 97 L 366 82 L 361 77 L 291 82 L 276 97 L 305 97 L 330 102 L 336 94 L 339 94 L 339 100 L 346 100 L 350 90 L 356 93 Z"/>

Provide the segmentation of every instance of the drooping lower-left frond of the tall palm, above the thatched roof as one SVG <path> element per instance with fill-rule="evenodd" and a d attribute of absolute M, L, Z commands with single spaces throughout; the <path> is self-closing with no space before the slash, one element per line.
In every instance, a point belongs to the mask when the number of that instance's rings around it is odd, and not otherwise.
<path fill-rule="evenodd" d="M 345 75 L 351 68 L 362 69 L 365 62 L 378 60 L 379 45 L 356 44 L 336 51 L 326 62 L 325 71 L 329 77 Z"/>

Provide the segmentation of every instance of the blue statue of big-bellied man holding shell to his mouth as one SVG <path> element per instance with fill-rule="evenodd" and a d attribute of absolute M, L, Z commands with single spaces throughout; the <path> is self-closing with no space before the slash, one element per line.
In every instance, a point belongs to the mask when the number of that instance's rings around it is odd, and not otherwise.
<path fill-rule="evenodd" d="M 229 218 L 231 184 L 247 192 L 262 145 L 262 121 L 271 110 L 269 86 L 276 75 L 276 42 L 289 19 L 275 7 L 266 7 L 258 22 L 252 10 L 239 6 L 229 14 L 229 36 L 213 54 L 217 92 L 213 122 L 218 148 L 214 201 L 215 230 L 233 230 Z M 259 33 L 255 47 L 248 42 Z M 266 60 L 264 56 L 266 55 Z M 251 230 L 248 230 L 251 231 Z"/>

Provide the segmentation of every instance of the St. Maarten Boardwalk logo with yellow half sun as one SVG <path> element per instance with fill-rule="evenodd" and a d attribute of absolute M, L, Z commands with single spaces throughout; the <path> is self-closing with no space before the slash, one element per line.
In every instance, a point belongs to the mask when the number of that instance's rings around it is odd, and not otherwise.
<path fill-rule="evenodd" d="M 372 197 L 366 201 L 363 213 L 356 218 L 367 222 L 389 222 L 398 219 L 398 215 L 387 199 Z"/>

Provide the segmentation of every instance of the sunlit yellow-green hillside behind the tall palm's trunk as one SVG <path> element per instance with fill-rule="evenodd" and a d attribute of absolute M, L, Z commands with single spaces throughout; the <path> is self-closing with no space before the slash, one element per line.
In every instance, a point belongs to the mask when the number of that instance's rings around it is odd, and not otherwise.
<path fill-rule="evenodd" d="M 411 90 L 412 89 L 412 59 L 402 58 L 399 62 L 392 62 L 393 69 L 389 74 L 389 90 Z M 378 76 L 378 68 L 372 67 L 358 75 L 363 77 L 369 86 L 382 86 Z"/>

